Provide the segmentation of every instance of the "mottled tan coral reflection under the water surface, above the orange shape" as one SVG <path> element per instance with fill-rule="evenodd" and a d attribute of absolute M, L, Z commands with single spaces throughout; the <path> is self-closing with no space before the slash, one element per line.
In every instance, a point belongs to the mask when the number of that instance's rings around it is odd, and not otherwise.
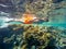
<path fill-rule="evenodd" d="M 63 5 L 62 3 L 54 3 L 57 2 L 58 0 L 36 0 L 32 1 L 28 0 L 25 3 L 25 11 L 30 11 L 31 13 L 36 14 L 37 16 L 50 16 L 48 13 L 54 11 L 55 9 L 59 9 Z"/>

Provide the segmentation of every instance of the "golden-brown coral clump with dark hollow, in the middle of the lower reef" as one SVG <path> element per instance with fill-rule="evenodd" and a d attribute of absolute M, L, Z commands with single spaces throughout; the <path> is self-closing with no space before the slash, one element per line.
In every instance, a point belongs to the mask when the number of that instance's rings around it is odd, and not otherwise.
<path fill-rule="evenodd" d="M 51 33 L 41 29 L 41 27 L 32 26 L 23 33 L 23 39 L 25 40 L 24 46 L 26 45 L 26 49 L 29 47 L 32 48 L 32 46 L 35 46 L 37 49 L 44 49 L 54 37 Z"/>

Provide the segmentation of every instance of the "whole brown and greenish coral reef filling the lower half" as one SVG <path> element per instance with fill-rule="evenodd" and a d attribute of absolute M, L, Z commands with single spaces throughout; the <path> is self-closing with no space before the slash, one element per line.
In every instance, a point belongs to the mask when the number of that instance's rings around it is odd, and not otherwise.
<path fill-rule="evenodd" d="M 62 36 L 66 29 L 59 27 L 21 24 L 10 25 L 8 28 L 12 34 L 4 37 L 3 42 L 12 44 L 12 49 L 58 49 L 66 46 L 63 40 L 66 37 Z"/>

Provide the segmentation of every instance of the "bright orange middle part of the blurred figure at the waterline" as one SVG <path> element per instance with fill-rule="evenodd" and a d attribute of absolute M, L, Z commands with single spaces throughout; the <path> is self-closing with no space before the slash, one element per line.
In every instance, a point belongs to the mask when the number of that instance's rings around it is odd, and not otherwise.
<path fill-rule="evenodd" d="M 23 14 L 23 16 L 21 19 L 18 19 L 15 21 L 21 21 L 24 24 L 31 24 L 34 22 L 34 20 L 36 20 L 37 17 L 34 14 L 30 14 L 30 13 L 25 13 Z"/>

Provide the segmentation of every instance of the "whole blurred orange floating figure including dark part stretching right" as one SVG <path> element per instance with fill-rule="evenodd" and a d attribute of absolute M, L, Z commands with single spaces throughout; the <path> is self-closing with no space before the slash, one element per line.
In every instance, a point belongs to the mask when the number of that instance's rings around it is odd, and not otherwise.
<path fill-rule="evenodd" d="M 48 17 L 38 17 L 34 14 L 31 13 L 24 13 L 21 19 L 14 19 L 13 21 L 10 22 L 22 22 L 23 24 L 32 24 L 32 23 L 37 23 L 37 22 L 48 22 Z M 8 22 L 8 23 L 10 23 Z"/>

